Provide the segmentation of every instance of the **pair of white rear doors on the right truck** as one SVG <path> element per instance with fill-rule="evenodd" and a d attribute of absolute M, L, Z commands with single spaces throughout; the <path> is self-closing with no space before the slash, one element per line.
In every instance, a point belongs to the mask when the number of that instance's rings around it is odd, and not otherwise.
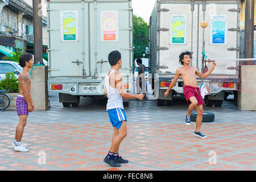
<path fill-rule="evenodd" d="M 237 2 L 182 2 L 166 2 L 160 5 L 159 66 L 168 67 L 160 71 L 175 74 L 176 69 L 182 66 L 179 64 L 179 55 L 183 51 L 193 52 L 192 66 L 201 71 L 205 42 L 205 55 L 217 63 L 213 75 L 237 75 L 236 70 L 226 69 L 236 67 L 238 58 L 239 12 L 230 11 L 238 8 Z M 203 20 L 208 23 L 206 28 L 200 26 Z M 162 31 L 163 28 L 168 28 L 169 31 Z"/>

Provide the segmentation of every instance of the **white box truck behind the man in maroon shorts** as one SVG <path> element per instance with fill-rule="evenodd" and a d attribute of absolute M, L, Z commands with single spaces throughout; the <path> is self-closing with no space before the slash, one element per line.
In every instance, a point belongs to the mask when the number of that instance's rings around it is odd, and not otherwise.
<path fill-rule="evenodd" d="M 201 27 L 205 21 L 208 26 Z M 212 74 L 204 79 L 209 85 L 207 106 L 221 106 L 225 92 L 237 90 L 237 67 L 240 38 L 240 1 L 156 1 L 150 17 L 150 78 L 157 105 L 172 105 L 174 94 L 183 94 L 179 78 L 168 97 L 164 97 L 179 64 L 179 55 L 191 51 L 192 66 L 203 71 L 203 55 L 217 63 Z M 207 63 L 208 69 L 210 64 Z M 203 69 L 202 69 L 203 67 Z M 197 77 L 198 86 L 201 78 Z"/>

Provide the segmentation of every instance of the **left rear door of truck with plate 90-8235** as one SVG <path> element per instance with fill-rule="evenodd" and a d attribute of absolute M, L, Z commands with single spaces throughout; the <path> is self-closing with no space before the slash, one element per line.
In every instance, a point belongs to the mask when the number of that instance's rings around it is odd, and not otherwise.
<path fill-rule="evenodd" d="M 88 76 L 88 3 L 52 0 L 48 6 L 49 77 Z"/>

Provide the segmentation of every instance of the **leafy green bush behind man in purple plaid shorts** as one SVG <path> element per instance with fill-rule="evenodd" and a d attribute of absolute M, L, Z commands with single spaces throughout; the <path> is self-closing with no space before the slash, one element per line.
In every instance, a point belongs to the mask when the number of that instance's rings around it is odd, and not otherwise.
<path fill-rule="evenodd" d="M 15 74 L 6 73 L 5 77 L 5 80 L 0 82 L 0 90 L 6 89 L 9 90 L 10 93 L 18 93 L 19 83 L 18 79 L 15 77 Z"/>

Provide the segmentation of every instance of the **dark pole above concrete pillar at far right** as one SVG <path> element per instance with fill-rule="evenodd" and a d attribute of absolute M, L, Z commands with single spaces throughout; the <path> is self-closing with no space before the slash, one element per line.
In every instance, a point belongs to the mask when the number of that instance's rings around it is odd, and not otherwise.
<path fill-rule="evenodd" d="M 245 0 L 245 58 L 254 57 L 254 1 Z"/>

